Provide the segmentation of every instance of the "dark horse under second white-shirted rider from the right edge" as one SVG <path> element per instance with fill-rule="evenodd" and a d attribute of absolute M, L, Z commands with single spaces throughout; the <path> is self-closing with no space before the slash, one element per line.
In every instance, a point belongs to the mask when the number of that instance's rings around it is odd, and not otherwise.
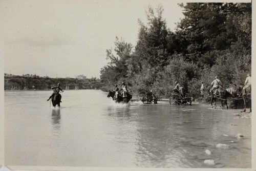
<path fill-rule="evenodd" d="M 215 101 L 215 109 L 216 109 L 216 101 L 217 99 L 220 99 L 221 100 L 221 108 L 222 109 L 228 109 L 228 106 L 227 106 L 227 95 L 226 95 L 226 90 L 219 86 L 219 88 L 215 89 L 213 91 L 213 95 L 211 95 L 211 92 L 210 92 L 210 89 L 208 88 L 208 93 L 209 95 L 211 96 L 211 107 L 214 108 L 214 106 L 212 105 L 212 102 Z"/>

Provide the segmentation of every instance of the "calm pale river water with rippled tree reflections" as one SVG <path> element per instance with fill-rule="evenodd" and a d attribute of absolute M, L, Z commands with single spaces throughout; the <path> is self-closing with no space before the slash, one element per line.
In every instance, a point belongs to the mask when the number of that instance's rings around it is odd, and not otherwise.
<path fill-rule="evenodd" d="M 251 167 L 251 118 L 238 110 L 116 104 L 98 90 L 65 91 L 54 109 L 51 93 L 5 92 L 6 165 Z"/>

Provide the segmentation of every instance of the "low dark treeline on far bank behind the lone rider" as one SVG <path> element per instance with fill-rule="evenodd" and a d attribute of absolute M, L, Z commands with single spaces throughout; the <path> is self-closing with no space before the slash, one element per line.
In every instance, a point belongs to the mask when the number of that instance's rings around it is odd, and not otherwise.
<path fill-rule="evenodd" d="M 61 84 L 62 89 L 101 89 L 102 83 L 97 78 L 50 78 L 37 75 L 5 74 L 5 90 L 51 90 L 51 87 Z"/>

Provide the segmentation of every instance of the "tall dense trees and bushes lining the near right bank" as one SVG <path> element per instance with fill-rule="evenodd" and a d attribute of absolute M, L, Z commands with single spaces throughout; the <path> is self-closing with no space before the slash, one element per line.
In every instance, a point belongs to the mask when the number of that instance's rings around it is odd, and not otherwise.
<path fill-rule="evenodd" d="M 174 32 L 167 28 L 163 8 L 149 6 L 147 22 L 138 20 L 136 45 L 116 37 L 114 50 L 106 50 L 109 63 L 100 71 L 105 90 L 125 81 L 133 95 L 152 90 L 168 97 L 179 81 L 190 96 L 199 97 L 201 81 L 207 87 L 215 76 L 225 88 L 244 82 L 251 72 L 251 3 L 179 6 L 185 17 Z"/>

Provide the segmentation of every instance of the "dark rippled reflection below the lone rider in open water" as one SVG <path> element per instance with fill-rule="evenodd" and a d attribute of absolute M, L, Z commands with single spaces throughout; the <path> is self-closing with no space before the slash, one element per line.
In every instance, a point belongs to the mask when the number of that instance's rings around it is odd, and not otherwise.
<path fill-rule="evenodd" d="M 60 115 L 60 109 L 52 109 L 52 126 L 54 130 L 55 136 L 60 136 L 61 132 L 61 115 Z"/>

